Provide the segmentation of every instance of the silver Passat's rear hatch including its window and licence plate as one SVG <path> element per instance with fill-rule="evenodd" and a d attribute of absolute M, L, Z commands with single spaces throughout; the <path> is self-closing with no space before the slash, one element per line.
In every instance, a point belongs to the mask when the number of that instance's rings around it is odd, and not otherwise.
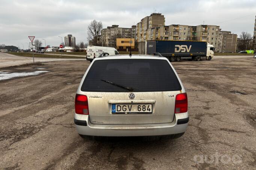
<path fill-rule="evenodd" d="M 170 123 L 181 85 L 163 59 L 93 62 L 81 87 L 94 124 Z"/>

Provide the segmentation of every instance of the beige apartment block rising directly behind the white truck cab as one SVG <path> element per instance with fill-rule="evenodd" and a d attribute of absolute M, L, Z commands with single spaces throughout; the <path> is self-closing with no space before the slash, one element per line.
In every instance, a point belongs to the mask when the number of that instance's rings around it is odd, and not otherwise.
<path fill-rule="evenodd" d="M 220 33 L 220 26 L 217 25 L 197 25 L 196 37 L 197 41 L 207 41 L 215 47 L 215 51 L 218 48 L 218 37 Z"/>

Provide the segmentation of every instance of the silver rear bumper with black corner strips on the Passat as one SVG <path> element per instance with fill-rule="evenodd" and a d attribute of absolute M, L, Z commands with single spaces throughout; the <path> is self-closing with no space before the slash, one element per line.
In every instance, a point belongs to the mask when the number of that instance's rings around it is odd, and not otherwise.
<path fill-rule="evenodd" d="M 175 114 L 171 123 L 92 124 L 89 115 L 75 114 L 77 132 L 89 136 L 157 136 L 183 133 L 188 126 L 188 112 Z M 79 123 L 77 123 L 79 122 Z"/>

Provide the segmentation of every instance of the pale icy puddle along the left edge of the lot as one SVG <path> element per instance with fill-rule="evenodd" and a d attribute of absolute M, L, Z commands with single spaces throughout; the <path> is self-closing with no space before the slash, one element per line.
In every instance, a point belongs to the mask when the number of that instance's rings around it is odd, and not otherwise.
<path fill-rule="evenodd" d="M 43 72 L 49 72 L 49 71 L 34 71 L 34 72 L 2 72 L 0 71 L 0 80 L 7 80 L 14 77 L 26 77 L 29 75 L 38 75 Z"/>

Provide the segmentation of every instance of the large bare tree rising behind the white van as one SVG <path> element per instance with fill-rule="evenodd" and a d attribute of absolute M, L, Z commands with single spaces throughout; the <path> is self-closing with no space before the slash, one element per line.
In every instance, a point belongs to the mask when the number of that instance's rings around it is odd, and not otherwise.
<path fill-rule="evenodd" d="M 93 46 L 101 46 L 102 22 L 93 20 L 87 27 L 87 40 Z"/>

